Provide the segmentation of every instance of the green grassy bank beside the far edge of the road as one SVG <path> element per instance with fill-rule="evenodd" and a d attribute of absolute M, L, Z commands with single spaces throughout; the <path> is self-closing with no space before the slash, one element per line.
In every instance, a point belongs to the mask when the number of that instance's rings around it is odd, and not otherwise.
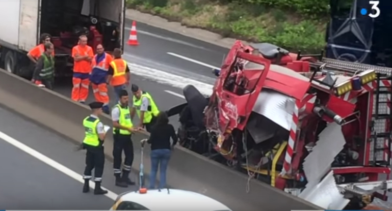
<path fill-rule="evenodd" d="M 329 0 L 127 0 L 128 8 L 251 42 L 319 52 Z"/>

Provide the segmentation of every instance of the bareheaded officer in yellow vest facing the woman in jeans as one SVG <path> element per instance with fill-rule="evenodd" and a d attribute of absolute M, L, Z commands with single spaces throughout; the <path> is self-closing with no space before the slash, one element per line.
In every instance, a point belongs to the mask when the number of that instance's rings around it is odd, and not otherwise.
<path fill-rule="evenodd" d="M 132 120 L 130 119 L 130 111 L 128 107 L 128 92 L 122 89 L 118 93 L 119 102 L 112 109 L 113 121 L 113 171 L 116 177 L 116 186 L 126 188 L 128 185 L 135 185 L 129 178 L 130 168 L 134 162 L 134 145 L 132 143 L 132 132 L 134 129 Z M 121 175 L 121 156 L 122 151 L 125 154 L 125 161 L 122 167 Z"/>

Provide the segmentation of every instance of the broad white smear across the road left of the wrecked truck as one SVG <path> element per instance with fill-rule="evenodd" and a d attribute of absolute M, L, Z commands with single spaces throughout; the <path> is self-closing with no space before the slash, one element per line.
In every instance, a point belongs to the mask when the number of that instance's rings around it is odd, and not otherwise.
<path fill-rule="evenodd" d="M 199 90 L 201 94 L 206 96 L 211 96 L 213 92 L 213 85 L 211 84 L 203 83 L 197 80 L 181 77 L 161 70 L 156 70 L 133 63 L 128 63 L 128 67 L 131 70 L 131 74 L 148 78 L 158 83 L 167 84 L 180 89 L 183 89 L 185 86 L 192 84 Z"/>

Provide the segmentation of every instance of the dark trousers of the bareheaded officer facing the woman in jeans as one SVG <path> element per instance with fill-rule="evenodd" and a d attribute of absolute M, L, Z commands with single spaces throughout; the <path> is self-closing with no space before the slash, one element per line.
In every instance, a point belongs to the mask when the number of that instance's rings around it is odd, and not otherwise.
<path fill-rule="evenodd" d="M 113 135 L 113 169 L 114 175 L 119 177 L 121 174 L 122 151 L 125 154 L 124 166 L 122 168 L 123 177 L 127 178 L 130 172 L 130 167 L 134 162 L 134 145 L 132 143 L 131 135 L 114 134 Z"/>

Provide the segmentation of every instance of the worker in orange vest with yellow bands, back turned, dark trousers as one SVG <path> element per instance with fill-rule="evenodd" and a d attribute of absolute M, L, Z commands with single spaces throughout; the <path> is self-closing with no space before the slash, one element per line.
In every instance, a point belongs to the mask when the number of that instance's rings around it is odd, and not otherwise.
<path fill-rule="evenodd" d="M 115 48 L 113 51 L 114 60 L 110 63 L 108 71 L 108 83 L 110 83 L 116 93 L 116 102 L 122 89 L 129 85 L 130 72 L 125 60 L 121 58 L 121 49 Z"/>

